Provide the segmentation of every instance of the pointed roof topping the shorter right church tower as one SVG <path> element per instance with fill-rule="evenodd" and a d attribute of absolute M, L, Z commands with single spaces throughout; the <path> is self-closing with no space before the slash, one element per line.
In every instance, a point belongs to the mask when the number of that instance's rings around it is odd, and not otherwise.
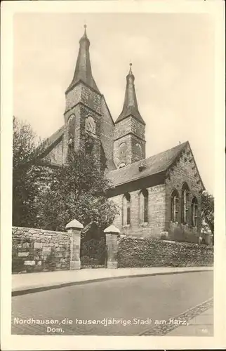
<path fill-rule="evenodd" d="M 132 66 L 132 63 L 130 63 Z M 145 124 L 145 121 L 142 119 L 140 112 L 138 110 L 138 101 L 135 95 L 135 85 L 134 85 L 135 77 L 132 72 L 132 68 L 130 67 L 128 75 L 126 76 L 126 93 L 124 98 L 124 107 L 122 109 L 121 114 L 117 118 L 115 123 L 118 123 L 122 119 L 133 116 L 135 119 L 138 119 L 140 123 Z"/>

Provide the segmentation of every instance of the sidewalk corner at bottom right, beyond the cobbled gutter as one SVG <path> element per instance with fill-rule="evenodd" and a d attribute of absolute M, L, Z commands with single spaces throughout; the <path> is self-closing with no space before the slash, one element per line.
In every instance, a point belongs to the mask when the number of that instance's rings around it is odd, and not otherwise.
<path fill-rule="evenodd" d="M 213 336 L 213 307 L 190 319 L 187 326 L 178 326 L 167 336 Z"/>

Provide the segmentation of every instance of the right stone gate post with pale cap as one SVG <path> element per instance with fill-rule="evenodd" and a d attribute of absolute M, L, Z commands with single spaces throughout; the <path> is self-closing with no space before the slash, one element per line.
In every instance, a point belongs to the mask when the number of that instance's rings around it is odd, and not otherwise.
<path fill-rule="evenodd" d="M 107 244 L 107 268 L 117 268 L 118 241 L 117 236 L 120 231 L 114 225 L 110 225 L 104 230 Z"/>

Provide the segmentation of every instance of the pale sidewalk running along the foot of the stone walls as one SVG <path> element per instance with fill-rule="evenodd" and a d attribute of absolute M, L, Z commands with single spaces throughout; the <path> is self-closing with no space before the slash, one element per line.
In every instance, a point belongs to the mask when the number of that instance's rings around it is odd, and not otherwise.
<path fill-rule="evenodd" d="M 76 284 L 101 282 L 107 279 L 126 277 L 145 277 L 159 274 L 199 272 L 213 270 L 213 267 L 148 267 L 118 268 L 116 270 L 97 268 L 84 270 L 65 270 L 55 272 L 22 273 L 12 276 L 12 296 L 57 289 Z"/>

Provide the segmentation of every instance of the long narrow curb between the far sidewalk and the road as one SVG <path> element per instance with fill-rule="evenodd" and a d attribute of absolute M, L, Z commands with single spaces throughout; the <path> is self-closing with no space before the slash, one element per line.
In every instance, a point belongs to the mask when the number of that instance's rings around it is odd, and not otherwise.
<path fill-rule="evenodd" d="M 22 290 L 14 290 L 12 291 L 12 296 L 21 296 L 27 293 L 39 293 L 41 291 L 52 290 L 52 289 L 60 289 L 66 288 L 67 286 L 74 286 L 74 285 L 84 285 L 90 284 L 95 282 L 105 282 L 107 280 L 114 280 L 114 279 L 124 279 L 124 278 L 138 278 L 138 277 L 152 277 L 156 275 L 168 275 L 168 274 L 184 274 L 184 273 L 196 273 L 196 272 L 213 272 L 213 270 L 186 270 L 184 272 L 159 272 L 159 273 L 147 273 L 147 274 L 134 274 L 134 275 L 121 275 L 119 277 L 104 277 L 104 278 L 97 278 L 97 279 L 88 279 L 88 280 L 81 280 L 80 282 L 68 282 L 68 283 L 59 283 L 55 285 L 49 286 L 39 286 L 36 288 L 27 288 Z"/>

